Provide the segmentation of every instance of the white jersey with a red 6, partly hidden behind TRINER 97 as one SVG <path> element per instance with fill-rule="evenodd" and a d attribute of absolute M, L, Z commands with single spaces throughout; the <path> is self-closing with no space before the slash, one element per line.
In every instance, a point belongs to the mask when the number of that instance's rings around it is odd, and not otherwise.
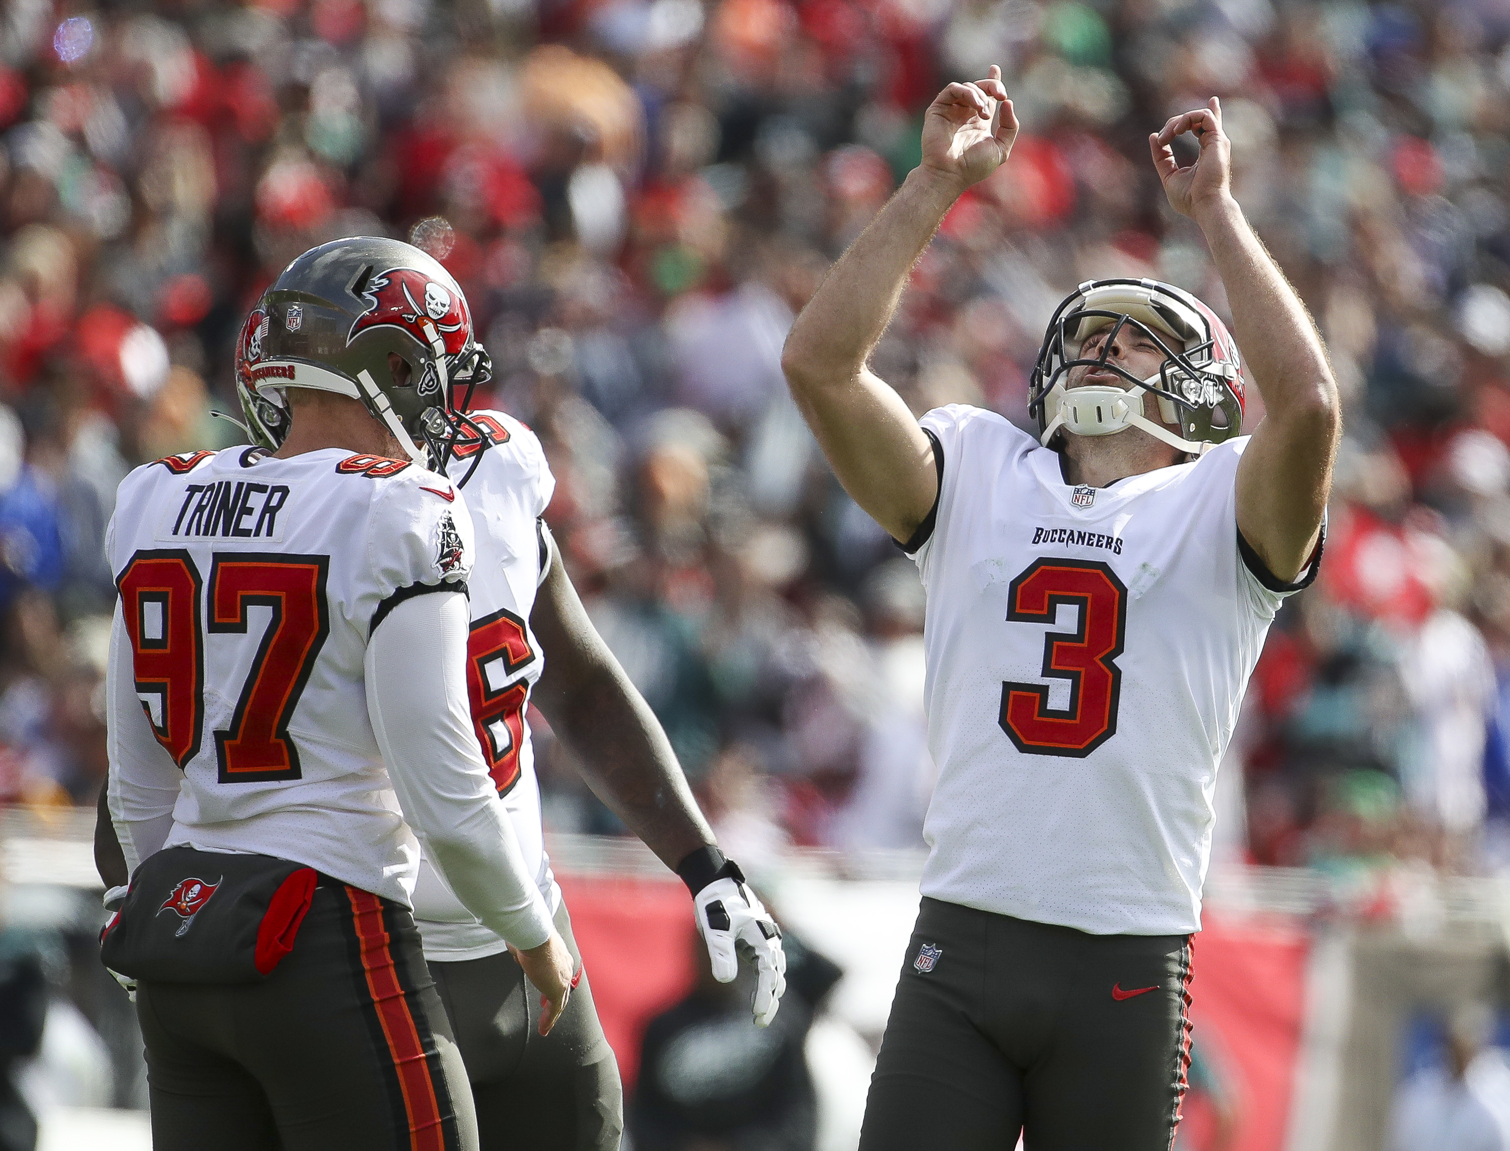
<path fill-rule="evenodd" d="M 551 502 L 556 478 L 539 439 L 518 419 L 504 412 L 468 415 L 488 433 L 488 440 L 468 437 L 459 444 L 447 469 L 458 484 L 467 480 L 461 493 L 477 540 L 468 576 L 467 689 L 483 762 L 513 822 L 525 867 L 554 916 L 562 893 L 541 833 L 541 787 L 525 709 L 545 670 L 541 646 L 530 631 L 530 611 L 550 566 L 541 514 Z M 477 959 L 507 946 L 462 907 L 427 858 L 420 864 L 414 914 L 429 959 Z"/>

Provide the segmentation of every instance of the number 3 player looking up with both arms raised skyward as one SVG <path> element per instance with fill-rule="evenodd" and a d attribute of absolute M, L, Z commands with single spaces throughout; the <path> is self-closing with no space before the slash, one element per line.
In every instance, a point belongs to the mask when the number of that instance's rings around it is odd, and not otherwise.
<path fill-rule="evenodd" d="M 1001 72 L 945 87 L 923 161 L 829 272 L 784 368 L 844 487 L 927 588 L 923 905 L 861 1151 L 1167 1151 L 1217 763 L 1321 554 L 1339 415 L 1321 339 L 1229 190 L 1217 100 L 1149 137 L 1238 342 L 1193 296 L 1093 281 L 1030 386 L 1037 434 L 914 418 L 867 367 L 935 229 L 1007 160 Z M 1181 164 L 1176 137 L 1199 158 Z M 1265 415 L 1241 434 L 1244 388 Z"/>

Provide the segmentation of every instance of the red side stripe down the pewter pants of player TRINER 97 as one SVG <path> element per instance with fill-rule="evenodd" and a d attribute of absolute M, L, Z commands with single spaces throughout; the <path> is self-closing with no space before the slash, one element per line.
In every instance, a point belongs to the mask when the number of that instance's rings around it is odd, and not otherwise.
<path fill-rule="evenodd" d="M 403 1110 L 409 1116 L 409 1146 L 412 1151 L 445 1151 L 445 1131 L 441 1127 L 435 1083 L 430 1082 L 430 1064 L 414 1012 L 409 1011 L 409 1000 L 399 984 L 388 929 L 382 922 L 382 901 L 371 892 L 350 886 L 346 895 L 352 901 L 352 919 L 362 952 L 367 990 L 378 1008 L 378 1021 L 382 1024 L 388 1053 L 399 1073 Z"/>

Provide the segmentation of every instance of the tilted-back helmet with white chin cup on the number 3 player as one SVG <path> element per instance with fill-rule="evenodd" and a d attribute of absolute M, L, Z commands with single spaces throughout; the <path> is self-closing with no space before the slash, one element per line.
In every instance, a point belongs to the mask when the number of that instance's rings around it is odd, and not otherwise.
<path fill-rule="evenodd" d="M 1081 356 L 1086 339 L 1110 327 L 1099 355 Z M 1110 359 L 1125 327 L 1154 342 L 1164 362 L 1139 379 Z M 1129 385 L 1068 388 L 1075 368 L 1110 371 Z M 1237 347 L 1225 326 L 1193 296 L 1157 281 L 1083 284 L 1054 312 L 1028 394 L 1028 413 L 1039 421 L 1040 442 L 1051 447 L 1060 431 L 1107 436 L 1137 427 L 1191 456 L 1237 436 L 1243 425 L 1243 376 Z M 1158 398 L 1160 415 L 1178 434 L 1143 415 L 1143 395 Z"/>

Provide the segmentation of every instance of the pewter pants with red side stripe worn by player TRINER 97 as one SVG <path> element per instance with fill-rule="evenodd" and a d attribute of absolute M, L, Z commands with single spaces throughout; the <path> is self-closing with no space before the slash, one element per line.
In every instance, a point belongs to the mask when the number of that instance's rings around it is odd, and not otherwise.
<path fill-rule="evenodd" d="M 408 908 L 320 878 L 260 984 L 136 993 L 156 1151 L 476 1151 L 467 1073 Z"/>

